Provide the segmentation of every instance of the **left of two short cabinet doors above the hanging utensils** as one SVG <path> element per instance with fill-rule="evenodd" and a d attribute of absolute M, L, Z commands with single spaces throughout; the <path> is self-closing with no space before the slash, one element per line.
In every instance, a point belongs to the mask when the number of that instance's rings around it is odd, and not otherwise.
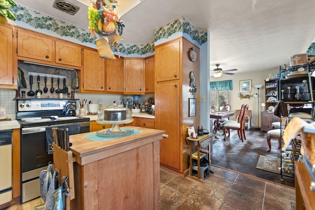
<path fill-rule="evenodd" d="M 52 62 L 53 40 L 18 30 L 18 56 Z"/>

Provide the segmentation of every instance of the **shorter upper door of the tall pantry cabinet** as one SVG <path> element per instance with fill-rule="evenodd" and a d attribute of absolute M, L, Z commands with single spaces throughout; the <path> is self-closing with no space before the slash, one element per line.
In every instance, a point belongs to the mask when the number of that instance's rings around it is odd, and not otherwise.
<path fill-rule="evenodd" d="M 182 68 L 182 39 L 175 39 L 155 48 L 157 82 L 179 80 Z"/>

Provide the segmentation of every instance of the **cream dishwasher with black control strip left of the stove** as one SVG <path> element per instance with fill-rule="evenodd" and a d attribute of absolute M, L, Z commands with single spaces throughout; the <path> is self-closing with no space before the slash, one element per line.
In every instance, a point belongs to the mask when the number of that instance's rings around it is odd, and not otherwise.
<path fill-rule="evenodd" d="M 12 129 L 0 130 L 0 205 L 12 200 Z"/>

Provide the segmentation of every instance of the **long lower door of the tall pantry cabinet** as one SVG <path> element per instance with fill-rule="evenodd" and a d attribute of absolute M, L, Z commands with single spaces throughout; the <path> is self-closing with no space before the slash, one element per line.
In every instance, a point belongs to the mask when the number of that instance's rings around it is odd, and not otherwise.
<path fill-rule="evenodd" d="M 180 83 L 158 84 L 155 97 L 156 129 L 169 136 L 160 141 L 160 163 L 180 170 Z"/>

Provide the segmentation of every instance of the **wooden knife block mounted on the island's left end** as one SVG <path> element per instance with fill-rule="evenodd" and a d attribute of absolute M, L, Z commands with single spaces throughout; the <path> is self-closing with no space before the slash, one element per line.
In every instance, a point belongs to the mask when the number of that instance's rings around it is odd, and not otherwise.
<path fill-rule="evenodd" d="M 53 156 L 55 168 L 59 170 L 59 184 L 62 185 L 62 178 L 68 177 L 68 186 L 70 189 L 70 200 L 74 199 L 74 177 L 73 177 L 73 163 L 76 158 L 73 157 L 72 151 L 65 151 L 53 144 Z"/>

